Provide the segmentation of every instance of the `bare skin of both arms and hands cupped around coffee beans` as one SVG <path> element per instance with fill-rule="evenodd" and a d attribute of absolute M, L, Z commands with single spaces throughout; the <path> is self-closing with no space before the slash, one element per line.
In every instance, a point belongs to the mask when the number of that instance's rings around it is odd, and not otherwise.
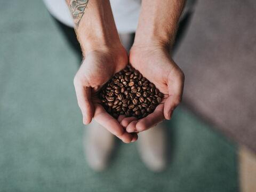
<path fill-rule="evenodd" d="M 138 139 L 137 132 L 170 119 L 183 91 L 184 75 L 169 52 L 184 1 L 142 0 L 139 25 L 129 57 L 118 37 L 108 0 L 67 0 L 67 4 L 83 52 L 82 65 L 74 78 L 83 123 L 89 124 L 94 118 L 129 143 Z M 154 113 L 139 121 L 124 116 L 116 120 L 94 96 L 103 84 L 127 65 L 128 60 L 165 94 L 163 103 Z"/>

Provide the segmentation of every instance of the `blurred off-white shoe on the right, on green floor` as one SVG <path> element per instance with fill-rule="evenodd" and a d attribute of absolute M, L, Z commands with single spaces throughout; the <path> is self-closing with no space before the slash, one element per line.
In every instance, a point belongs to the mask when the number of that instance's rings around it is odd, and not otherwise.
<path fill-rule="evenodd" d="M 160 123 L 147 131 L 139 133 L 138 150 L 143 163 L 149 170 L 161 172 L 167 164 L 166 134 Z"/>

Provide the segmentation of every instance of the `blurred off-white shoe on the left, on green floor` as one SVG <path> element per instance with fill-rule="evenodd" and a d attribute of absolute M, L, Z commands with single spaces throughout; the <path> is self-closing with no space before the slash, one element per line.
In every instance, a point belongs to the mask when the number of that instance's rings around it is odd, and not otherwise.
<path fill-rule="evenodd" d="M 85 126 L 84 153 L 94 171 L 103 171 L 114 148 L 114 135 L 95 121 Z"/>

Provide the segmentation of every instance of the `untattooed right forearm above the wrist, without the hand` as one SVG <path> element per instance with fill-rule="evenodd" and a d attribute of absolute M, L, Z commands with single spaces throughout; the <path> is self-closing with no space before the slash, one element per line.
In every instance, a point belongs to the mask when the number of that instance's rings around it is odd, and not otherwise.
<path fill-rule="evenodd" d="M 134 45 L 171 46 L 185 0 L 142 0 Z"/>

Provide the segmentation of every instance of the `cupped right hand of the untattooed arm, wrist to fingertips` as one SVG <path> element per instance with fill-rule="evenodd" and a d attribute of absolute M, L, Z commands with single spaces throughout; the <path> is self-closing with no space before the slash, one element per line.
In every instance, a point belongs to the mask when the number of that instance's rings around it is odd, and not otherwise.
<path fill-rule="evenodd" d="M 171 119 L 173 110 L 182 99 L 185 77 L 171 59 L 169 50 L 161 45 L 133 45 L 129 59 L 135 69 L 164 93 L 162 103 L 152 114 L 140 120 L 135 117 L 121 119 L 121 125 L 126 127 L 127 132 L 132 133 L 145 131 L 164 119 Z"/>

